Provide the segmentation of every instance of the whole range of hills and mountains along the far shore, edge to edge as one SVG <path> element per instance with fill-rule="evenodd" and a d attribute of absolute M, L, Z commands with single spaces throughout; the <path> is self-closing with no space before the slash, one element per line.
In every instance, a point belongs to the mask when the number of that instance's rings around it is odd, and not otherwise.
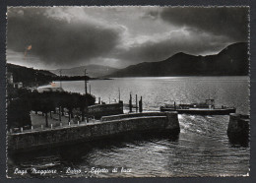
<path fill-rule="evenodd" d="M 84 72 L 91 78 L 118 77 L 164 77 L 164 76 L 246 76 L 249 71 L 249 56 L 246 42 L 234 43 L 216 55 L 195 56 L 186 53 L 175 55 L 159 62 L 144 62 L 124 69 L 102 65 L 88 65 L 58 70 L 36 70 L 14 64 L 7 64 L 7 71 L 13 74 L 14 82 L 45 83 L 54 80 L 84 80 Z M 66 77 L 64 77 L 66 76 Z M 75 77 L 76 76 L 76 77 Z M 88 80 L 90 78 L 87 77 Z"/>

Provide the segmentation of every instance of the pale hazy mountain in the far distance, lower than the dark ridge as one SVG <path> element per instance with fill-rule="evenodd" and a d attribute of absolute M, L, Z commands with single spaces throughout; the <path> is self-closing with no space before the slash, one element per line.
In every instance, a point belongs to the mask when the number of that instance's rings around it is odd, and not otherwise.
<path fill-rule="evenodd" d="M 99 78 L 105 75 L 110 75 L 118 70 L 108 66 L 93 64 L 88 66 L 74 67 L 70 69 L 61 69 L 61 74 L 64 76 L 84 76 L 85 69 L 87 69 L 87 75 L 91 78 Z M 60 69 L 51 70 L 50 72 L 59 75 L 59 71 Z"/>

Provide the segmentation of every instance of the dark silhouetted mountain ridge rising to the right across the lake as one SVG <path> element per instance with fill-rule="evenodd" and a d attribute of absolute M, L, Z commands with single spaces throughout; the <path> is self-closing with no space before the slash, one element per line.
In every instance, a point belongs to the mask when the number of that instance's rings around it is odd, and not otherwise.
<path fill-rule="evenodd" d="M 249 69 L 247 52 L 246 42 L 231 44 L 216 55 L 179 52 L 163 61 L 131 65 L 105 77 L 245 76 Z"/>

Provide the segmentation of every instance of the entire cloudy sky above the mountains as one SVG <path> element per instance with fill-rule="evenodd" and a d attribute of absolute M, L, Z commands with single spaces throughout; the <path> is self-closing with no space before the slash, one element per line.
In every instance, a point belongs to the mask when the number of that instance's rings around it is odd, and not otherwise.
<path fill-rule="evenodd" d="M 216 54 L 248 36 L 248 8 L 235 7 L 20 7 L 7 18 L 7 62 L 38 69 Z"/>

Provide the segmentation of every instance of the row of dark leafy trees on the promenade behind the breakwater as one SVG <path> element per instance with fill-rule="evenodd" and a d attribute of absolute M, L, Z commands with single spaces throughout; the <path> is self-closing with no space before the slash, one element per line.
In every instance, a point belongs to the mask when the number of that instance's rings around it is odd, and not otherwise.
<path fill-rule="evenodd" d="M 96 97 L 92 94 L 80 94 L 67 91 L 29 91 L 26 89 L 8 90 L 7 124 L 8 129 L 32 125 L 30 112 L 42 112 L 45 116 L 45 126 L 48 127 L 48 115 L 53 113 L 64 115 L 68 111 L 69 120 L 74 118 L 73 109 L 79 109 L 82 121 L 87 115 L 87 107 L 94 105 Z M 58 109 L 58 111 L 56 111 Z"/>

